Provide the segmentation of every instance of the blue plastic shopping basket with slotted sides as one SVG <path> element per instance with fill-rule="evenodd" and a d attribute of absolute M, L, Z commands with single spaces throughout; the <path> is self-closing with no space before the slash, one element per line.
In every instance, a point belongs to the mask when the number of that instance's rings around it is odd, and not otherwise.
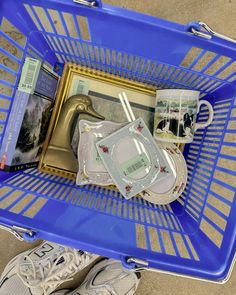
<path fill-rule="evenodd" d="M 26 56 L 51 66 L 71 61 L 158 89 L 199 90 L 215 112 L 185 147 L 188 184 L 171 205 L 127 201 L 109 188 L 78 189 L 31 169 L 0 174 L 0 224 L 31 229 L 32 239 L 225 280 L 236 249 L 235 45 L 101 1 L 89 8 L 68 0 L 2 0 L 0 25 L 0 144 Z M 206 117 L 203 109 L 198 120 Z"/>

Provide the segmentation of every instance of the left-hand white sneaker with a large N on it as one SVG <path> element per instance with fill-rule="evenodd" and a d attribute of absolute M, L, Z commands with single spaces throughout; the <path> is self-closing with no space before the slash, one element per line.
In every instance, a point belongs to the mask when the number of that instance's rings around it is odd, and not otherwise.
<path fill-rule="evenodd" d="M 13 258 L 0 278 L 0 295 L 47 295 L 97 255 L 44 242 Z"/>

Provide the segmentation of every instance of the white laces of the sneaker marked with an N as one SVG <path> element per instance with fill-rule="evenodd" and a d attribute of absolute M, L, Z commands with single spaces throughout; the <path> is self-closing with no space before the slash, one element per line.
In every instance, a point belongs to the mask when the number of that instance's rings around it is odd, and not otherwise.
<path fill-rule="evenodd" d="M 57 265 L 62 258 L 64 258 L 63 267 Z M 30 265 L 30 267 L 23 270 L 22 266 L 19 266 L 17 274 L 25 286 L 30 289 L 41 288 L 43 294 L 48 295 L 51 290 L 55 290 L 62 283 L 72 280 L 71 276 L 88 264 L 89 260 L 87 253 L 80 255 L 73 250 L 61 254 L 55 262 L 48 260 L 47 265 L 36 267 L 33 260 L 25 256 L 25 265 Z"/>

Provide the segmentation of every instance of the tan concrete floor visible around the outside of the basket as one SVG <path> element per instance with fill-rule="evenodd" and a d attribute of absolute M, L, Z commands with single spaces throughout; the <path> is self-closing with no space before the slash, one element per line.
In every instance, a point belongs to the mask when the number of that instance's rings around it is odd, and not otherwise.
<path fill-rule="evenodd" d="M 104 2 L 183 24 L 193 20 L 202 20 L 216 31 L 236 39 L 236 0 L 107 0 Z M 12 257 L 35 246 L 18 242 L 5 231 L 0 231 L 0 241 L 0 273 Z M 136 294 L 169 295 L 174 292 L 175 295 L 234 295 L 236 294 L 236 281 L 233 280 L 235 276 L 236 269 L 227 284 L 215 285 L 169 275 L 144 273 Z M 74 282 L 74 286 L 80 280 L 81 277 Z"/>

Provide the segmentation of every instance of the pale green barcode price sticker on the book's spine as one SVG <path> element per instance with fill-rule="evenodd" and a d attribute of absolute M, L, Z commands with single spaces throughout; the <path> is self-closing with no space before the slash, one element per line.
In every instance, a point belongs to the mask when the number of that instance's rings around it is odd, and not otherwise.
<path fill-rule="evenodd" d="M 23 65 L 18 90 L 33 93 L 38 79 L 41 62 L 34 58 L 27 57 Z"/>

